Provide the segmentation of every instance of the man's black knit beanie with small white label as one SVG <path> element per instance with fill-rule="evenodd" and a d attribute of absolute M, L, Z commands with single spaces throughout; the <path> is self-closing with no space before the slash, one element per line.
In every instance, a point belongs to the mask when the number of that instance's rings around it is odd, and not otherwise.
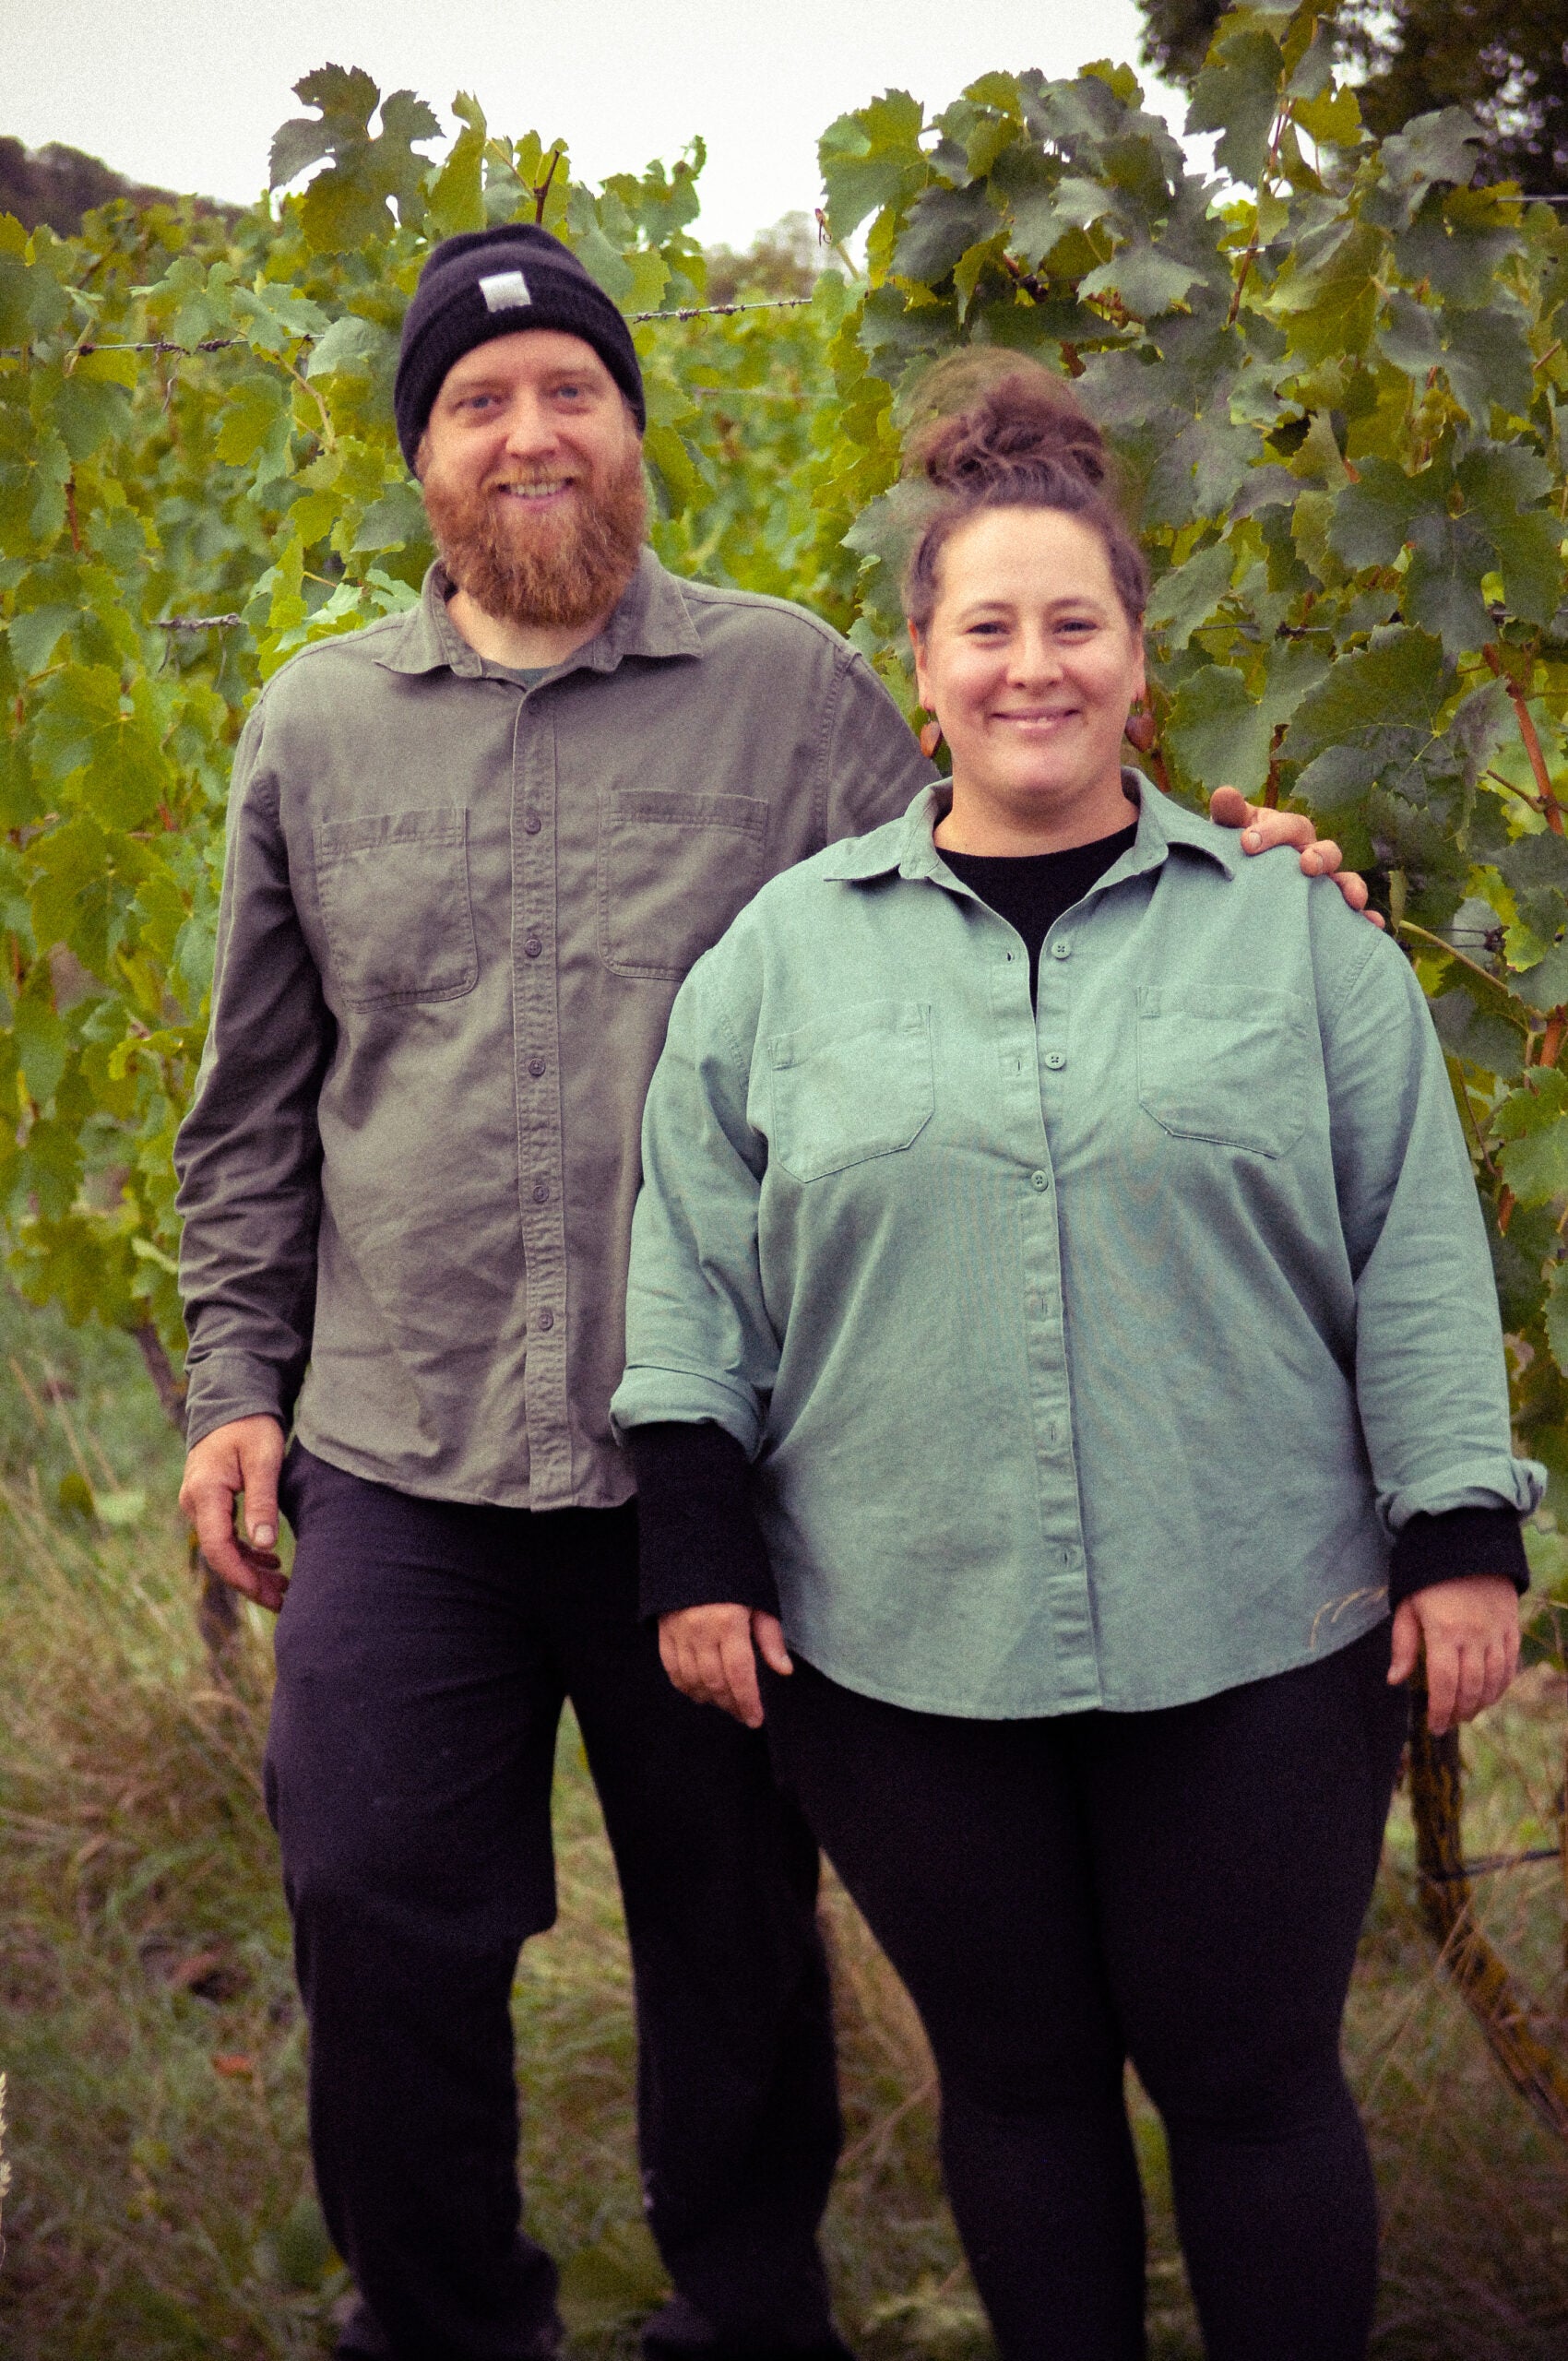
<path fill-rule="evenodd" d="M 451 364 L 491 335 L 515 335 L 520 328 L 581 335 L 631 401 L 638 430 L 647 425 L 631 328 L 605 288 L 548 229 L 501 222 L 496 229 L 465 229 L 458 238 L 442 238 L 404 314 L 392 408 L 409 467 Z"/>

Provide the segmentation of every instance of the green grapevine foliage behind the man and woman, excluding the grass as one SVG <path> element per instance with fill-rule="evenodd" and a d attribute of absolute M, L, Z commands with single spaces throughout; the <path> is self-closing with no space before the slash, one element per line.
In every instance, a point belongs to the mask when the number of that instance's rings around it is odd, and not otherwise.
<path fill-rule="evenodd" d="M 1568 227 L 1474 187 L 1457 109 L 1367 135 L 1334 52 L 1311 7 L 1221 19 L 1190 111 L 1221 184 L 1126 66 L 985 76 L 937 116 L 886 92 L 822 139 L 810 300 L 777 293 L 810 279 L 798 248 L 751 293 L 727 257 L 720 293 L 775 305 L 730 316 L 685 316 L 699 144 L 588 189 L 458 97 L 432 165 L 425 102 L 338 66 L 300 83 L 272 205 L 0 220 L 0 1209 L 26 1289 L 137 1334 L 168 1391 L 229 751 L 293 649 L 413 600 L 401 309 L 435 238 L 536 217 L 638 321 L 659 552 L 817 607 L 904 701 L 912 385 L 961 342 L 1082 380 L 1157 571 L 1159 779 L 1299 803 L 1374 874 L 1561 1487 Z"/>

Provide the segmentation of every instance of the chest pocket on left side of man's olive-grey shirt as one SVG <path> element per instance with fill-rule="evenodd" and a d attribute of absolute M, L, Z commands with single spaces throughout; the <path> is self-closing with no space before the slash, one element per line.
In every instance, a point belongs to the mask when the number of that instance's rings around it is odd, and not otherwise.
<path fill-rule="evenodd" d="M 479 982 L 460 805 L 324 819 L 316 895 L 349 1008 L 456 1001 Z"/>

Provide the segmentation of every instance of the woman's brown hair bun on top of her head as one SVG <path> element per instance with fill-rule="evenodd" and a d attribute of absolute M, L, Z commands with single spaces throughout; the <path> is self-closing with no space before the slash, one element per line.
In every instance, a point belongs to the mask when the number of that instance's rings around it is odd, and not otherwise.
<path fill-rule="evenodd" d="M 904 475 L 935 491 L 1004 491 L 1008 477 L 1065 470 L 1096 491 L 1110 453 L 1070 387 L 1039 361 L 971 345 L 926 373 L 904 439 Z"/>

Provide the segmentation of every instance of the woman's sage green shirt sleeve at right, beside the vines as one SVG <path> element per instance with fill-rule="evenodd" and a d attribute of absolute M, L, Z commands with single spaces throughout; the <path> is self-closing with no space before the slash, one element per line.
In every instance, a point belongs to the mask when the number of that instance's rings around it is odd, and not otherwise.
<path fill-rule="evenodd" d="M 1327 918 L 1344 944 L 1337 914 Z M 1396 1554 L 1419 1558 L 1419 1535 L 1400 1544 L 1412 1518 L 1528 1516 L 1544 1469 L 1511 1450 L 1497 1287 L 1422 987 L 1386 937 L 1353 951 L 1322 1048 L 1355 1280 L 1355 1398 L 1379 1513 Z M 1509 1556 L 1495 1572 L 1514 1565 Z"/>

